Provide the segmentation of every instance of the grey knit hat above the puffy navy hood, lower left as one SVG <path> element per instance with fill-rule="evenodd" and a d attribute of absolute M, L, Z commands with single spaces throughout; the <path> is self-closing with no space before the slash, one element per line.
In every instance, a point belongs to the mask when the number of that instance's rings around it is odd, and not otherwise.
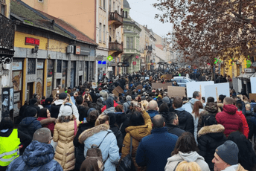
<path fill-rule="evenodd" d="M 40 143 L 48 143 L 50 140 L 51 131 L 48 128 L 40 128 L 33 133 L 33 141 L 39 141 Z"/>

